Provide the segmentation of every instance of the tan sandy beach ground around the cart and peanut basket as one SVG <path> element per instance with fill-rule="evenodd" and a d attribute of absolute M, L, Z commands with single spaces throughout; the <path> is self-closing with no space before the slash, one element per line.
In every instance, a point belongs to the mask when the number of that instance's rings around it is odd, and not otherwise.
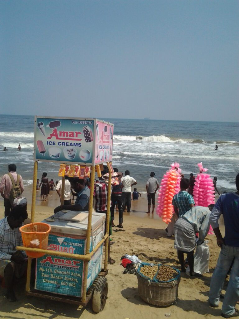
<path fill-rule="evenodd" d="M 24 194 L 30 199 L 30 189 Z M 30 215 L 30 202 L 28 212 Z M 58 205 L 59 197 L 51 192 L 49 202 L 40 201 L 40 193 L 37 195 L 35 221 L 41 221 L 53 213 L 53 207 Z M 156 214 L 145 214 L 147 201 L 140 198 L 132 202 L 132 212 L 124 215 L 125 232 L 113 232 L 111 256 L 116 263 L 109 265 L 107 280 L 109 283 L 108 300 L 104 310 L 95 315 L 89 303 L 85 309 L 74 305 L 61 304 L 44 299 L 27 297 L 24 293 L 24 285 L 18 286 L 18 302 L 9 303 L 3 297 L 3 288 L 0 296 L 0 317 L 3 318 L 115 318 L 138 319 L 159 318 L 165 313 L 170 313 L 172 318 L 212 318 L 221 315 L 221 303 L 218 309 L 210 308 L 207 303 L 210 278 L 219 254 L 214 235 L 207 236 L 210 247 L 210 273 L 203 278 L 190 278 L 183 274 L 178 290 L 176 305 L 159 308 L 150 306 L 141 300 L 138 295 L 138 283 L 135 275 L 122 274 L 120 257 L 128 253 L 138 254 L 145 262 L 163 263 L 178 267 L 177 252 L 174 249 L 174 237 L 168 238 L 165 233 L 166 224 Z M 0 201 L 0 218 L 4 216 L 3 200 Z M 116 220 L 118 212 L 115 214 Z"/>

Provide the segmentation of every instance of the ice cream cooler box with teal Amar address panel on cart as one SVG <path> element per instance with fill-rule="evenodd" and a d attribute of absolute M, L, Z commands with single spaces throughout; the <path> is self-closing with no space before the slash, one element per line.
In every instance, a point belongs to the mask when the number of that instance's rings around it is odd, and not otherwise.
<path fill-rule="evenodd" d="M 85 255 L 88 212 L 59 211 L 43 220 L 51 226 L 48 249 Z M 104 238 L 104 213 L 92 213 L 90 252 Z M 87 290 L 101 271 L 103 244 L 88 263 Z M 54 255 L 36 260 L 35 289 L 69 296 L 82 296 L 84 261 Z"/>

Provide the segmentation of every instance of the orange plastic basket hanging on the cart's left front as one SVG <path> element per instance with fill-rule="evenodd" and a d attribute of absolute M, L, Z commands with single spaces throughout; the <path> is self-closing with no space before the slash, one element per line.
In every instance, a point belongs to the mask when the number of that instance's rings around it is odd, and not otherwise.
<path fill-rule="evenodd" d="M 48 236 L 51 226 L 45 223 L 31 223 L 19 228 L 22 234 L 22 242 L 24 247 L 47 249 Z M 44 253 L 36 253 L 26 250 L 29 257 L 37 258 L 44 256 Z"/>

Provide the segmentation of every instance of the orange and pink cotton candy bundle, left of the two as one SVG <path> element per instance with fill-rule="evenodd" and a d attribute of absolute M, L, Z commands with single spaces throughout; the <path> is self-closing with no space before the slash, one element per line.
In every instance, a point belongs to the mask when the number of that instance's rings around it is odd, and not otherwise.
<path fill-rule="evenodd" d="M 166 224 L 169 224 L 174 210 L 172 199 L 180 190 L 181 169 L 179 163 L 172 163 L 171 168 L 163 175 L 158 194 L 157 214 Z"/>

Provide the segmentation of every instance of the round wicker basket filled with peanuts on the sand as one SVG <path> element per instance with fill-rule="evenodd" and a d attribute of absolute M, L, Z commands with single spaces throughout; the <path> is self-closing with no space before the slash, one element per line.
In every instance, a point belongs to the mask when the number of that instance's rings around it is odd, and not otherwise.
<path fill-rule="evenodd" d="M 155 306 L 170 306 L 177 299 L 180 271 L 169 265 L 141 263 L 136 271 L 140 297 Z"/>

